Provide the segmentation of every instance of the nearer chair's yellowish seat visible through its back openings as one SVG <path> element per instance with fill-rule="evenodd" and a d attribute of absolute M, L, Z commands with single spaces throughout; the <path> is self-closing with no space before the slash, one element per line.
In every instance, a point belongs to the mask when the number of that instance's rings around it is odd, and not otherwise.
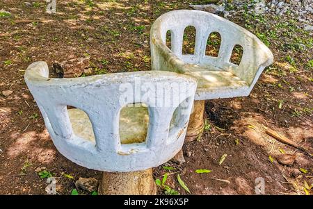
<path fill-rule="evenodd" d="M 69 109 L 68 115 L 74 134 L 95 143 L 93 127 L 86 112 L 77 108 Z M 146 107 L 125 107 L 120 111 L 121 144 L 145 142 L 149 114 Z"/>

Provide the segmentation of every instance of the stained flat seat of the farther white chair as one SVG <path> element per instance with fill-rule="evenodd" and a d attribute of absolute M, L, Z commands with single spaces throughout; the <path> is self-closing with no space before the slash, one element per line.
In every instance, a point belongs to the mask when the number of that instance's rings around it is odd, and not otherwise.
<path fill-rule="evenodd" d="M 198 81 L 196 100 L 247 96 L 248 83 L 217 67 L 186 64 L 190 76 Z"/>

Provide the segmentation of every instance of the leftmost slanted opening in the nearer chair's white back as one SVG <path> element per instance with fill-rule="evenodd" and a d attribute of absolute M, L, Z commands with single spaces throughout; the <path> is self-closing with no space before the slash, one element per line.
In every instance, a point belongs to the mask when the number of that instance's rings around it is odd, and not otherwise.
<path fill-rule="evenodd" d="M 70 117 L 74 135 L 81 138 L 81 140 L 86 140 L 96 144 L 95 134 L 93 133 L 93 125 L 91 124 L 87 113 L 72 106 L 67 106 L 67 112 Z"/>

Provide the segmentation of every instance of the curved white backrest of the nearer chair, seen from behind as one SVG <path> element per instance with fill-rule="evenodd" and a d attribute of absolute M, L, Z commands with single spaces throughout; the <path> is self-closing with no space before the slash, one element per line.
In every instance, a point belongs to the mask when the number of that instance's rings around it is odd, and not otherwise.
<path fill-rule="evenodd" d="M 46 62 L 34 62 L 26 70 L 25 81 L 56 148 L 77 164 L 131 172 L 161 165 L 182 147 L 197 85 L 194 78 L 157 71 L 62 79 L 48 78 L 48 74 Z M 172 95 L 167 97 L 170 101 L 163 101 L 165 95 Z M 120 143 L 120 110 L 128 103 L 148 107 L 143 143 Z M 96 144 L 73 133 L 67 106 L 86 112 Z"/>

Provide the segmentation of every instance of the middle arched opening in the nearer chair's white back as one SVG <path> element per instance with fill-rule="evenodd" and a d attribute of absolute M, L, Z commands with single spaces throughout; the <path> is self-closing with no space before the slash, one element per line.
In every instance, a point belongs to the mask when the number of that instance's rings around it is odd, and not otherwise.
<path fill-rule="evenodd" d="M 147 138 L 149 111 L 145 103 L 131 103 L 120 110 L 121 144 L 143 143 Z"/>

